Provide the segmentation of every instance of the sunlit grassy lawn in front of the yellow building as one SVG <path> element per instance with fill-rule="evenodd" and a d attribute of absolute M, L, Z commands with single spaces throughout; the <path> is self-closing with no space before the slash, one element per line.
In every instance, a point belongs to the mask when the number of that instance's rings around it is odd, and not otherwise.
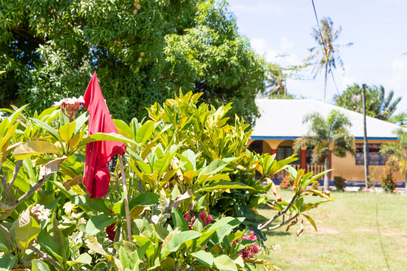
<path fill-rule="evenodd" d="M 291 194 L 283 192 L 283 199 Z M 280 249 L 261 257 L 283 270 L 407 270 L 407 197 L 353 192 L 333 196 L 335 201 L 308 212 L 318 232 L 306 219 L 301 237 L 295 233 L 299 225 L 289 232 L 270 232 L 265 245 L 279 244 Z M 270 218 L 274 212 L 259 213 Z"/>

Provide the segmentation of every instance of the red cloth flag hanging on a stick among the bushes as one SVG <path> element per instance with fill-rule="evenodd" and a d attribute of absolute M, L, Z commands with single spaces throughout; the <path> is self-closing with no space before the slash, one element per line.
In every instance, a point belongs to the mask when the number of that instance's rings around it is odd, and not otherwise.
<path fill-rule="evenodd" d="M 92 76 L 88 88 L 86 88 L 83 100 L 82 105 L 88 108 L 89 112 L 89 135 L 118 133 L 103 99 L 96 72 Z M 94 141 L 86 144 L 82 183 L 91 198 L 100 198 L 106 195 L 110 181 L 106 164 L 114 155 L 124 155 L 125 152 L 126 145 L 122 142 Z"/>

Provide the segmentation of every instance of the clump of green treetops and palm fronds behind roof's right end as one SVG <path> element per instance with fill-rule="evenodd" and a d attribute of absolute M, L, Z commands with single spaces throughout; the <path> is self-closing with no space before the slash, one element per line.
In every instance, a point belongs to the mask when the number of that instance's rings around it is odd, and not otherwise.
<path fill-rule="evenodd" d="M 395 100 L 393 97 L 393 91 L 386 96 L 382 85 L 366 86 L 366 115 L 389 121 L 401 100 L 401 97 Z M 362 113 L 362 86 L 348 85 L 340 96 L 335 95 L 334 101 L 340 107 Z"/>

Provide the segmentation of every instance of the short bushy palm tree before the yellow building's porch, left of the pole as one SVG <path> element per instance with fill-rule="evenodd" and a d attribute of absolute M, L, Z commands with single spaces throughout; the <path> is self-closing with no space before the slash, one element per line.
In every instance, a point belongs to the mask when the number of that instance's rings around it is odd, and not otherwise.
<path fill-rule="evenodd" d="M 325 160 L 325 170 L 330 169 L 329 150 L 337 157 L 345 157 L 346 152 L 355 155 L 355 138 L 347 130 L 352 124 L 346 115 L 332 110 L 327 119 L 314 112 L 304 116 L 303 123 L 311 123 L 308 134 L 295 140 L 293 148 L 296 153 L 301 147 L 312 149 L 312 163 Z M 324 190 L 329 189 L 328 173 L 324 175 Z"/>

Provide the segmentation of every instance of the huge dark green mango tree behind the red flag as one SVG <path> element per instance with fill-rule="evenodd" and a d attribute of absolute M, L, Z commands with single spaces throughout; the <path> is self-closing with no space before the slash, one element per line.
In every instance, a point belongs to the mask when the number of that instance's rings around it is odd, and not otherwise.
<path fill-rule="evenodd" d="M 214 105 L 234 102 L 231 117 L 254 123 L 258 115 L 264 61 L 224 1 L 6 0 L 0 17 L 0 66 L 7 71 L 1 106 L 44 109 L 79 96 L 96 70 L 115 117 L 145 116 L 144 108 L 180 87 L 203 92 Z"/>

